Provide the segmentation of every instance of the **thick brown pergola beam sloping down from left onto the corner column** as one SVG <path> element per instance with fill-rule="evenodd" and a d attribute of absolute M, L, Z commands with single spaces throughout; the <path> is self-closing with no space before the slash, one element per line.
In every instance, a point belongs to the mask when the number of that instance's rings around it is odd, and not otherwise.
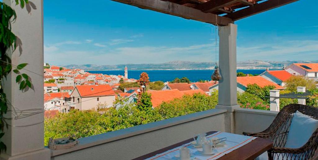
<path fill-rule="evenodd" d="M 212 13 L 203 13 L 200 10 L 186 7 L 180 4 L 171 3 L 162 0 L 112 0 L 120 3 L 129 4 L 142 9 L 149 9 L 169 15 L 175 15 L 185 19 L 206 22 L 210 24 L 216 24 L 216 19 L 218 19 L 217 24 L 219 26 L 227 26 L 229 23 L 233 23 L 230 18 L 216 16 Z"/>

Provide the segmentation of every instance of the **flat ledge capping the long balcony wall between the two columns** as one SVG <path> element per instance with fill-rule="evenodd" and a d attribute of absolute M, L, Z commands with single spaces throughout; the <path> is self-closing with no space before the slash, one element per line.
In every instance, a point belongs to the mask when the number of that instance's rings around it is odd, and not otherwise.
<path fill-rule="evenodd" d="M 166 120 L 161 120 L 153 123 L 148 123 L 140 126 L 129 127 L 113 132 L 102 133 L 90 137 L 79 138 L 79 144 L 73 148 L 65 149 L 65 150 L 51 150 L 51 157 L 55 157 L 58 155 L 62 155 L 65 153 L 82 150 L 88 147 L 93 147 L 96 145 L 101 145 L 105 143 L 109 143 L 112 141 L 116 141 L 123 138 L 128 138 L 132 136 L 136 136 L 139 134 L 156 131 L 159 129 L 167 128 L 170 126 L 179 125 L 182 123 L 199 120 L 206 117 L 211 117 L 217 114 L 225 113 L 225 109 L 210 109 L 202 112 L 197 112 L 193 114 L 187 114 L 175 118 L 170 118 Z"/>

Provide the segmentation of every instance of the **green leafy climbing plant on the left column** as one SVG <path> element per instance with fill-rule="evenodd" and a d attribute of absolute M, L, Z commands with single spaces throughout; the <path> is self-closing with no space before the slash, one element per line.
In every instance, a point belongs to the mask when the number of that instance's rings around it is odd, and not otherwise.
<path fill-rule="evenodd" d="M 15 0 L 16 5 L 20 4 L 21 8 L 24 8 L 28 0 Z M 3 79 L 6 78 L 11 70 L 17 74 L 16 82 L 19 83 L 19 89 L 24 90 L 27 87 L 31 88 L 31 81 L 29 76 L 22 73 L 22 69 L 28 65 L 22 63 L 19 65 L 12 65 L 9 50 L 14 51 L 17 48 L 17 36 L 11 32 L 11 22 L 14 22 L 17 18 L 16 12 L 10 6 L 3 2 L 0 2 L 0 151 L 6 150 L 6 145 L 3 143 L 1 138 L 4 135 L 4 126 L 8 127 L 5 123 L 3 114 L 8 111 L 8 103 L 6 94 L 3 92 Z M 0 152 L 1 154 L 1 152 Z"/>

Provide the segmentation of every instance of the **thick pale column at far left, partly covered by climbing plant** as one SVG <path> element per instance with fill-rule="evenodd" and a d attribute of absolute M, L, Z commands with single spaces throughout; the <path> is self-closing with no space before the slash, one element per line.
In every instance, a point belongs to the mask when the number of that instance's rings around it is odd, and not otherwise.
<path fill-rule="evenodd" d="M 43 0 L 29 1 L 24 9 L 16 5 L 14 0 L 3 2 L 17 14 L 16 21 L 12 22 L 12 32 L 18 37 L 18 47 L 14 52 L 8 51 L 12 64 L 28 63 L 25 69 L 39 74 L 20 70 L 28 74 L 32 82 L 31 89 L 24 91 L 19 90 L 19 84 L 15 82 L 17 74 L 11 72 L 7 76 L 2 86 L 8 102 L 11 103 L 8 110 L 38 109 L 40 113 L 25 118 L 18 116 L 18 119 L 12 111 L 4 115 L 14 119 L 5 120 L 9 126 L 4 127 L 5 134 L 1 140 L 7 146 L 7 151 L 1 153 L 0 159 L 48 160 L 50 150 L 44 147 Z M 17 115 L 19 114 L 17 111 Z"/>

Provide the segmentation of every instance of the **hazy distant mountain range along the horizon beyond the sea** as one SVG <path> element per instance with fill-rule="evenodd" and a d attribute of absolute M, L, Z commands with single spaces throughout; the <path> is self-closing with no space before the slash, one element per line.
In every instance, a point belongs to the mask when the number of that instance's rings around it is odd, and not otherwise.
<path fill-rule="evenodd" d="M 318 61 L 261 61 L 247 60 L 237 62 L 237 69 L 282 69 L 293 63 L 318 63 Z M 190 61 L 171 61 L 160 64 L 126 64 L 126 65 L 64 65 L 69 69 L 83 69 L 86 71 L 103 70 L 209 70 L 214 69 L 214 62 L 190 62 Z"/>

